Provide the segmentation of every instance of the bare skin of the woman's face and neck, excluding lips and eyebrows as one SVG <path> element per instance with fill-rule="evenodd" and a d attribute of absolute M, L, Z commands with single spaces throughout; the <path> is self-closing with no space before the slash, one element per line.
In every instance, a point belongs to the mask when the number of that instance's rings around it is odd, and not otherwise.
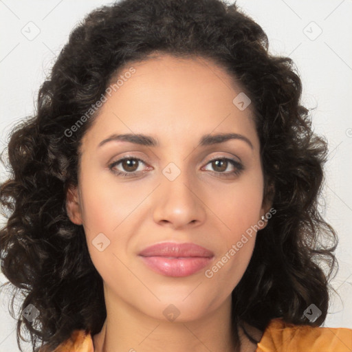
<path fill-rule="evenodd" d="M 95 351 L 234 351 L 231 292 L 248 267 L 256 233 L 212 278 L 204 272 L 270 210 L 251 105 L 239 110 L 232 100 L 241 89 L 204 58 L 163 55 L 133 67 L 83 137 L 78 188 L 67 192 L 69 217 L 83 225 L 104 281 L 107 320 L 94 336 Z M 205 134 L 229 132 L 245 135 L 253 148 L 243 140 L 199 146 Z M 113 141 L 98 148 L 112 133 L 152 135 L 160 146 Z M 109 169 L 126 155 L 145 162 L 114 166 L 139 172 L 133 177 Z M 241 162 L 245 170 L 230 174 L 236 167 L 209 162 L 214 157 Z M 173 181 L 162 173 L 170 162 L 181 172 Z M 100 233 L 110 241 L 102 252 L 92 243 Z M 215 256 L 190 276 L 157 274 L 137 254 L 164 241 L 196 243 Z M 173 321 L 163 314 L 170 304 L 179 311 Z M 248 329 L 260 340 L 261 331 Z M 240 336 L 241 352 L 255 351 L 241 330 Z"/>

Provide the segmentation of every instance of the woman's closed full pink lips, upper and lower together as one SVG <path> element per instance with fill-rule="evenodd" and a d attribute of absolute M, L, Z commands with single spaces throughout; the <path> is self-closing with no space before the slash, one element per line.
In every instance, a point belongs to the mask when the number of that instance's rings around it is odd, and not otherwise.
<path fill-rule="evenodd" d="M 195 243 L 157 243 L 138 254 L 151 270 L 165 276 L 183 277 L 209 265 L 214 253 Z"/>

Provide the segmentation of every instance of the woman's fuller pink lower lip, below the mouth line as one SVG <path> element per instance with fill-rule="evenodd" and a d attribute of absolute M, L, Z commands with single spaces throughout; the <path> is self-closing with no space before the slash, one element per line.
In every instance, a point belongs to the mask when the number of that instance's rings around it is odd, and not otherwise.
<path fill-rule="evenodd" d="M 144 263 L 155 272 L 173 277 L 183 277 L 195 274 L 206 267 L 212 258 L 193 256 L 189 258 L 169 259 L 165 256 L 141 256 Z"/>

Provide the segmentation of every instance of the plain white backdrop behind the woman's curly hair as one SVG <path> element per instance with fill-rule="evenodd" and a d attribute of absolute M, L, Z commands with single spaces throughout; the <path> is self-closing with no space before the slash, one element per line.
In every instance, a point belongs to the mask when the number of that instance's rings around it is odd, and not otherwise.
<path fill-rule="evenodd" d="M 72 28 L 85 14 L 109 3 L 0 0 L 1 151 L 12 126 L 34 111 L 39 86 Z M 321 203 L 327 221 L 340 238 L 336 250 L 340 270 L 332 281 L 340 297 L 332 296 L 324 326 L 352 328 L 352 1 L 236 3 L 266 32 L 272 54 L 294 60 L 303 82 L 302 102 L 316 108 L 311 112 L 314 130 L 329 142 Z M 5 176 L 1 165 L 2 181 Z M 0 281 L 7 281 L 3 274 Z M 8 314 L 5 293 L 0 303 L 0 352 L 18 351 L 15 321 Z"/>

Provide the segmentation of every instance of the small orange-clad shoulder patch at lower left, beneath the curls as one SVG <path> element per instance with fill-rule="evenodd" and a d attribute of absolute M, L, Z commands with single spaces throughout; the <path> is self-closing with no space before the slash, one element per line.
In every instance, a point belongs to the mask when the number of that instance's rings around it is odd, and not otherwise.
<path fill-rule="evenodd" d="M 54 349 L 49 351 L 43 347 L 38 352 L 94 352 L 93 340 L 91 334 L 86 330 L 74 330 L 71 337 Z"/>

